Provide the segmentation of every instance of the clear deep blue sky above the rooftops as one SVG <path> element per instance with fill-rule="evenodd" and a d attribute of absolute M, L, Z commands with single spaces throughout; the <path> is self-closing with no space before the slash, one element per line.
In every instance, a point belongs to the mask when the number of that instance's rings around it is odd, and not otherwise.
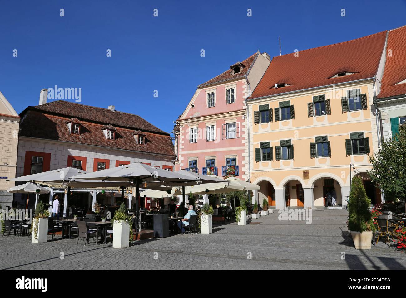
<path fill-rule="evenodd" d="M 279 55 L 278 36 L 287 54 L 403 26 L 405 12 L 405 0 L 0 0 L 0 91 L 20 113 L 42 88 L 82 88 L 81 103 L 170 132 L 197 85 L 257 49 Z"/>

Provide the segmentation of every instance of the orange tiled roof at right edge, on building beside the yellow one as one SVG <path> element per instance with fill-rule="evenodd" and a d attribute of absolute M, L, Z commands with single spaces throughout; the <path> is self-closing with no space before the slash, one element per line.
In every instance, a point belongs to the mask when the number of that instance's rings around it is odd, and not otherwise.
<path fill-rule="evenodd" d="M 406 83 L 397 84 L 406 79 L 406 26 L 390 30 L 386 47 L 386 61 L 378 98 L 406 94 Z M 392 56 L 388 56 L 388 50 Z"/>

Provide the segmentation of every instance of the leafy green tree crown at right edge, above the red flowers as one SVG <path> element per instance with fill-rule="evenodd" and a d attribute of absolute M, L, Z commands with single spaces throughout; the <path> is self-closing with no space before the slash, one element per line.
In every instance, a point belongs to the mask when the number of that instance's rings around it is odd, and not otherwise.
<path fill-rule="evenodd" d="M 368 172 L 371 180 L 379 184 L 387 200 L 406 197 L 406 125 L 399 126 L 393 139 L 382 142 L 376 154 L 369 157 L 373 165 Z"/>

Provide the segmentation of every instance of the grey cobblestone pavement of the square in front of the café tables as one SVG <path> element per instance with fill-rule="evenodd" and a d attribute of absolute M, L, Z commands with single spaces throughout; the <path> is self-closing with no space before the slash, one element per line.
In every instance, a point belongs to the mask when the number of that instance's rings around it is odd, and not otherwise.
<path fill-rule="evenodd" d="M 213 234 L 175 235 L 135 242 L 126 249 L 111 243 L 86 247 L 77 240 L 32 244 L 30 237 L 0 237 L 0 269 L 405 269 L 406 254 L 384 242 L 369 251 L 354 249 L 346 210 L 315 210 L 313 221 L 279 221 L 278 213 L 214 225 Z M 49 236 L 49 240 L 50 240 Z M 56 238 L 59 238 L 56 236 Z M 80 243 L 79 242 L 79 243 Z M 60 253 L 65 258 L 60 259 Z M 248 259 L 248 254 L 252 259 Z M 341 259 L 345 253 L 345 259 Z M 154 255 L 158 259 L 154 259 Z"/>

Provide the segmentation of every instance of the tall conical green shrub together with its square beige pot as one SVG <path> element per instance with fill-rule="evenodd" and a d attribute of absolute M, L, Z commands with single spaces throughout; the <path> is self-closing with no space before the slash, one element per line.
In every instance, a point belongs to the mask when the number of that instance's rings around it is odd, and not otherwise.
<path fill-rule="evenodd" d="M 369 205 L 371 201 L 365 193 L 362 179 L 354 177 L 348 203 L 348 229 L 356 249 L 371 249 L 374 220 Z"/>

